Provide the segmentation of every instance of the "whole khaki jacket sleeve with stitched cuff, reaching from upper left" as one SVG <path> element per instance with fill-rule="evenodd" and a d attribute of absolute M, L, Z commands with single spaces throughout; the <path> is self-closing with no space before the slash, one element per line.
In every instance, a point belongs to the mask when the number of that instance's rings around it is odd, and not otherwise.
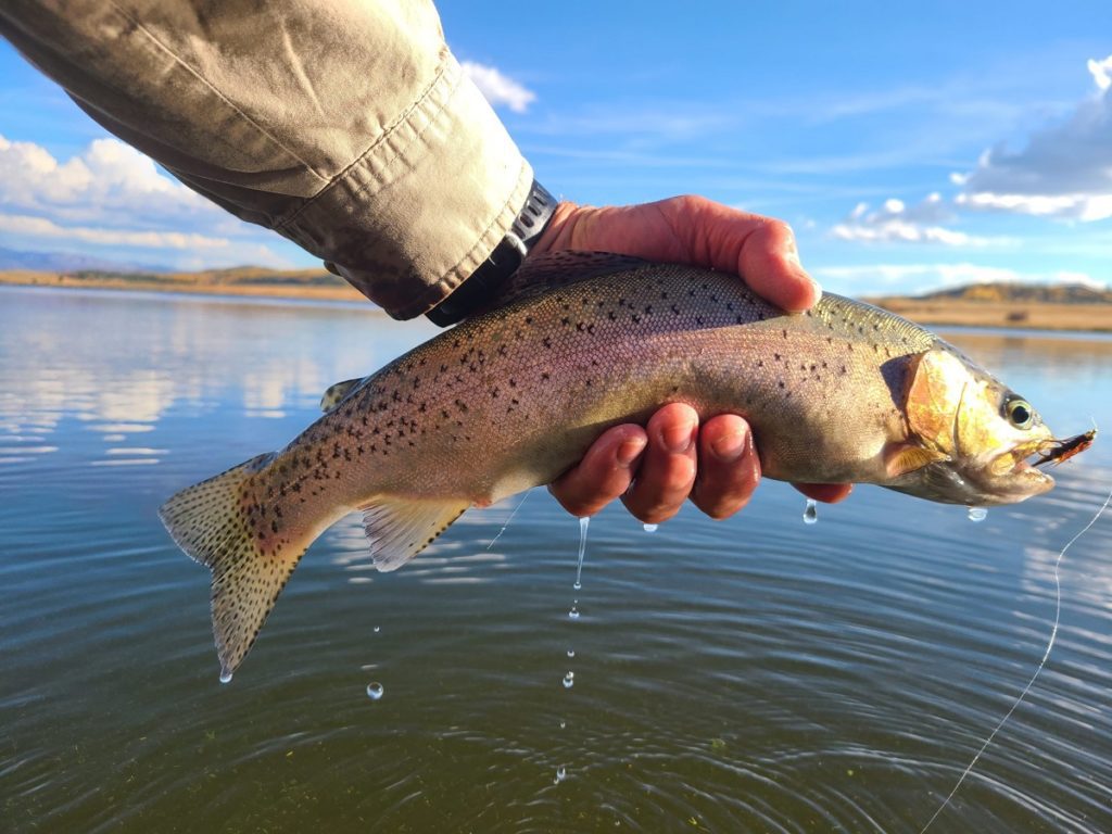
<path fill-rule="evenodd" d="M 93 119 L 396 318 L 497 246 L 533 171 L 420 0 L 6 0 Z"/>

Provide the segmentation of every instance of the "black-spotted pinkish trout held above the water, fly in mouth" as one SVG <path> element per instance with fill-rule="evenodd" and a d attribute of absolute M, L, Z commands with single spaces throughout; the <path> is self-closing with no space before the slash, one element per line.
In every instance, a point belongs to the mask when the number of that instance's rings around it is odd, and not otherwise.
<path fill-rule="evenodd" d="M 530 281 L 544 288 L 334 386 L 284 449 L 161 507 L 212 573 L 222 679 L 339 518 L 363 513 L 376 567 L 394 570 L 468 507 L 550 483 L 667 403 L 745 417 L 765 477 L 970 506 L 1045 493 L 1026 459 L 1076 450 L 945 341 L 847 298 L 788 315 L 731 275 L 599 254 L 538 259 Z"/>

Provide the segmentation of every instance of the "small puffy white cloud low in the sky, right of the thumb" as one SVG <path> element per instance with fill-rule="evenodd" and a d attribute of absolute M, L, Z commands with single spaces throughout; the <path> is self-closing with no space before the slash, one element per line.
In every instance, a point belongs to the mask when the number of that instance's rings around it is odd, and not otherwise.
<path fill-rule="evenodd" d="M 1007 238 L 985 238 L 955 231 L 940 224 L 953 219 L 953 212 L 932 193 L 916 206 L 902 200 L 885 200 L 871 211 L 868 203 L 858 202 L 841 224 L 831 229 L 838 240 L 863 242 L 940 244 L 942 246 L 991 246 L 1011 242 Z"/>

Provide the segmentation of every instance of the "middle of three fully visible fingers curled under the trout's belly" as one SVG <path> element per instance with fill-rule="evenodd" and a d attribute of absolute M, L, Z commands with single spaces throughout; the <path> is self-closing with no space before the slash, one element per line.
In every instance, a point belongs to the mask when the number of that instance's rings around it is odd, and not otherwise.
<path fill-rule="evenodd" d="M 649 418 L 646 430 L 648 448 L 622 502 L 645 524 L 659 524 L 679 512 L 695 485 L 698 415 L 673 403 Z"/>

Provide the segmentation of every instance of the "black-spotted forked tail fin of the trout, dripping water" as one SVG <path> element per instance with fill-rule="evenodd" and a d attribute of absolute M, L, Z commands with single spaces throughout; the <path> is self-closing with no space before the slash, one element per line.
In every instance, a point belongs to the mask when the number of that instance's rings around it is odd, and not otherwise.
<path fill-rule="evenodd" d="M 247 481 L 271 459 L 272 454 L 251 458 L 182 489 L 158 510 L 178 546 L 212 572 L 212 635 L 225 683 L 308 548 L 305 543 L 288 550 L 281 544 L 264 549 L 265 536 L 256 533 L 262 516 Z"/>

